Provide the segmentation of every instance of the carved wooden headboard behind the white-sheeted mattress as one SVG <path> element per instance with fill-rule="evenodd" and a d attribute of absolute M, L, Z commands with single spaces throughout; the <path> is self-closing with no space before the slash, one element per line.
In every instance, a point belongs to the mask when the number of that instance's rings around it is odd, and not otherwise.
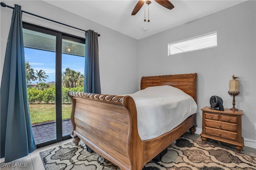
<path fill-rule="evenodd" d="M 142 77 L 140 89 L 158 85 L 171 85 L 181 89 L 196 101 L 196 78 L 197 73 Z"/>

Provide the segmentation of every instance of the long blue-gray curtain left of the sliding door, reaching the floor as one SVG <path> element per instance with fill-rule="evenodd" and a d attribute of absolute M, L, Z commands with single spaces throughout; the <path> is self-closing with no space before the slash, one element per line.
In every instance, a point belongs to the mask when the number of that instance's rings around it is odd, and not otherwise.
<path fill-rule="evenodd" d="M 15 4 L 0 89 L 1 158 L 5 162 L 36 149 L 28 108 L 21 6 Z"/>

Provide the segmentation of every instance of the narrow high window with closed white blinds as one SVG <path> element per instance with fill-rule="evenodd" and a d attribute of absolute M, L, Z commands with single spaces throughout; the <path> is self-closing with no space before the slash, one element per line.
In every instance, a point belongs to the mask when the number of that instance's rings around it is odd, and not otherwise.
<path fill-rule="evenodd" d="M 217 47 L 217 32 L 168 43 L 168 55 Z"/>

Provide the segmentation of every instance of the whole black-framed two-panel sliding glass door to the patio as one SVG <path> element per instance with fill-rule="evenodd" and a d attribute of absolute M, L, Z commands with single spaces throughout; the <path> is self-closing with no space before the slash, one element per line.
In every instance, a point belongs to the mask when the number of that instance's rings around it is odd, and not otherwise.
<path fill-rule="evenodd" d="M 37 147 L 70 138 L 68 91 L 83 91 L 85 40 L 23 23 L 28 101 Z"/>

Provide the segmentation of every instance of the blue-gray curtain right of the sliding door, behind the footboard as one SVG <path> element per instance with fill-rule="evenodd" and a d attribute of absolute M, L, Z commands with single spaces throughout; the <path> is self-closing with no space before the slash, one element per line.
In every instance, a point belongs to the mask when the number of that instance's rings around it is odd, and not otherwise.
<path fill-rule="evenodd" d="M 101 93 L 98 33 L 92 30 L 85 36 L 84 92 Z"/>

